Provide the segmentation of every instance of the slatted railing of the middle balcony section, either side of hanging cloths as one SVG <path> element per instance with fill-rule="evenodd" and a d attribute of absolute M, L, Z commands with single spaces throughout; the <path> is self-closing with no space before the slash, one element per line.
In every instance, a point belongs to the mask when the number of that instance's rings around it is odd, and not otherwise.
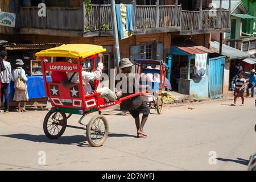
<path fill-rule="evenodd" d="M 158 11 L 159 14 L 156 14 Z M 180 26 L 181 6 L 138 6 L 135 8 L 134 27 L 135 29 L 174 27 Z M 85 30 L 96 31 L 106 28 L 112 30 L 112 11 L 111 5 L 93 5 L 89 15 L 85 15 Z M 105 26 L 104 26 L 105 25 Z"/>

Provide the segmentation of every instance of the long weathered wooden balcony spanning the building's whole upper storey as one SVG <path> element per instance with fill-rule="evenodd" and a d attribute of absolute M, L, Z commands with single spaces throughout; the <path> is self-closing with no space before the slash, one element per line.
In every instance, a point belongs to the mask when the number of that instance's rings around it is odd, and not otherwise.
<path fill-rule="evenodd" d="M 229 10 L 185 11 L 181 6 L 133 4 L 134 34 L 180 32 L 204 34 L 229 29 Z M 38 7 L 19 7 L 18 25 L 22 34 L 59 36 L 113 36 L 111 5 L 93 5 L 90 14 L 84 7 L 47 7 L 46 17 L 38 16 Z"/>

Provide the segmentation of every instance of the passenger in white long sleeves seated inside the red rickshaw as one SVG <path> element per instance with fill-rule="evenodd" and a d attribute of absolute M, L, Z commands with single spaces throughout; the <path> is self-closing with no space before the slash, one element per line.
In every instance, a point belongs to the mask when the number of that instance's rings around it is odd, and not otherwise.
<path fill-rule="evenodd" d="M 84 85 L 85 95 L 89 95 L 93 93 L 92 86 L 90 85 L 90 81 L 96 80 L 97 78 L 100 78 L 102 75 L 102 70 L 104 68 L 104 65 L 102 63 L 103 54 L 102 53 L 98 54 L 98 57 L 99 57 L 99 63 L 96 71 L 94 72 L 82 71 L 82 81 Z M 79 73 L 75 73 L 74 75 L 74 73 L 69 72 L 68 80 L 70 79 L 71 79 L 70 82 L 79 83 Z M 108 87 L 97 88 L 96 91 L 100 93 L 100 97 L 107 98 L 109 101 L 115 101 L 122 96 L 121 90 L 117 93 L 114 93 Z"/>

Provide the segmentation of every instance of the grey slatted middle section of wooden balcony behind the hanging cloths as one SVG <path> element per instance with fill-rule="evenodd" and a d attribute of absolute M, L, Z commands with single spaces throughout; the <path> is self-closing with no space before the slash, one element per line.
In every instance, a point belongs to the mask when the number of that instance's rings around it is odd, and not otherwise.
<path fill-rule="evenodd" d="M 180 31 L 180 17 L 181 6 L 134 5 L 134 34 Z M 93 5 L 84 27 L 85 36 L 113 35 L 111 5 Z"/>

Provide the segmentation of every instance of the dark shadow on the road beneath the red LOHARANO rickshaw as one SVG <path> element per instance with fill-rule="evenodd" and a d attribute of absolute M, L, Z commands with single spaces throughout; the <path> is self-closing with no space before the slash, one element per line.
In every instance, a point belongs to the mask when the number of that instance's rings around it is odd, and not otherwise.
<path fill-rule="evenodd" d="M 79 147 L 91 147 L 87 142 L 85 135 L 75 135 L 75 136 L 63 136 L 59 139 L 49 139 L 46 135 L 31 135 L 31 134 L 13 134 L 13 135 L 1 135 L 0 137 L 9 137 L 21 140 L 27 140 L 30 142 L 39 143 L 55 143 L 55 144 L 76 144 Z M 117 134 L 109 133 L 109 137 L 135 137 L 129 134 Z"/>

